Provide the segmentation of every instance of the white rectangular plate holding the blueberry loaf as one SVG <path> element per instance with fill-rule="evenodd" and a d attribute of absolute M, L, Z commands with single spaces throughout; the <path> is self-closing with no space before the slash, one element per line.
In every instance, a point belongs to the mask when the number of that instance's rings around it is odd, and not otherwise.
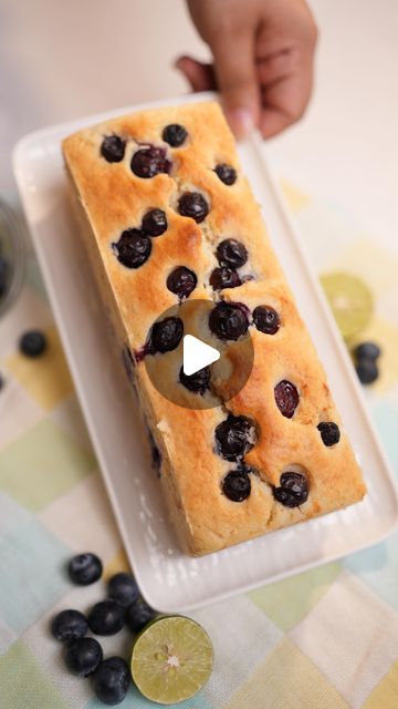
<path fill-rule="evenodd" d="M 114 361 L 84 250 L 72 238 L 76 227 L 60 142 L 113 115 L 202 97 L 185 96 L 56 125 L 25 136 L 14 151 L 28 224 L 126 552 L 144 596 L 165 613 L 188 612 L 375 544 L 398 517 L 394 479 L 353 366 L 276 194 L 262 146 L 253 137 L 239 148 L 243 169 L 326 368 L 369 492 L 364 502 L 347 510 L 202 558 L 190 558 L 176 545 L 142 420 L 123 370 Z"/>

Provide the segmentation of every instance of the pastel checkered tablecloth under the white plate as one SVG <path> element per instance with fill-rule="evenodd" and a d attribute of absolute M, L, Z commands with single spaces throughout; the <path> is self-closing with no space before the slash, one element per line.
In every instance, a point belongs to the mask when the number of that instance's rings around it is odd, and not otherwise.
<path fill-rule="evenodd" d="M 398 472 L 398 253 L 378 246 L 336 205 L 284 185 L 318 271 L 363 277 L 377 301 L 365 337 L 384 349 L 383 374 L 367 393 Z M 43 328 L 38 360 L 18 338 Z M 96 552 L 105 578 L 127 567 L 33 256 L 27 282 L 0 322 L 0 709 L 100 709 L 90 680 L 69 675 L 49 619 L 100 599 L 95 584 L 73 588 L 72 554 Z M 383 510 L 380 510 L 383 515 Z M 184 709 L 397 709 L 398 533 L 387 542 L 192 616 L 208 630 L 213 675 Z M 105 654 L 128 655 L 122 631 Z M 155 707 L 132 688 L 123 707 Z"/>

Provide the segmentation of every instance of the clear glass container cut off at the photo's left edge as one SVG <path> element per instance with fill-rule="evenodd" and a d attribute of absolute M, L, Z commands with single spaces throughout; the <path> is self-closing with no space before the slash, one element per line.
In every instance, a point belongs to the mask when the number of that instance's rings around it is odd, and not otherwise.
<path fill-rule="evenodd" d="M 22 226 L 11 207 L 0 197 L 0 317 L 21 290 L 24 263 Z"/>

